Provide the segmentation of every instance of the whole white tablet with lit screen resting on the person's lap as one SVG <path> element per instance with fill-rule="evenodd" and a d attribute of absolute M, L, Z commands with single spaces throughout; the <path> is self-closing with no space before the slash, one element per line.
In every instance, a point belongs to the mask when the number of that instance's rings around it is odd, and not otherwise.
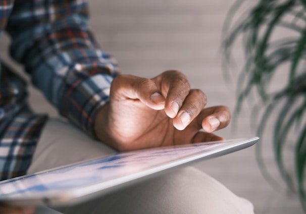
<path fill-rule="evenodd" d="M 72 205 L 170 169 L 249 147 L 258 137 L 119 152 L 111 156 L 0 182 L 0 202 Z"/>

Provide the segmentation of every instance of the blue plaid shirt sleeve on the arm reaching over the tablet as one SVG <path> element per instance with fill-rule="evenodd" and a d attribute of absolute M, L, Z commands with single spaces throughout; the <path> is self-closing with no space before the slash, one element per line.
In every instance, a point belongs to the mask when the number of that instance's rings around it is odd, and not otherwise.
<path fill-rule="evenodd" d="M 6 28 L 10 53 L 60 114 L 94 136 L 119 69 L 88 27 L 85 0 L 17 0 Z"/>

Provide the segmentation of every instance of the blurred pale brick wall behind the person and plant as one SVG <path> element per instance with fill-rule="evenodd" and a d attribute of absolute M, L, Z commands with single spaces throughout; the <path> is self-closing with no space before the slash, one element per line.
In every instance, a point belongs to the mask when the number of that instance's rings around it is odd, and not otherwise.
<path fill-rule="evenodd" d="M 91 21 L 101 48 L 114 55 L 122 73 L 154 77 L 177 69 L 184 72 L 193 88 L 208 96 L 208 106 L 228 105 L 234 109 L 237 74 L 224 78 L 220 45 L 222 25 L 233 0 L 90 0 Z M 9 38 L 0 39 L 0 56 L 17 70 L 22 68 L 7 55 Z M 243 56 L 237 44 L 236 60 Z M 51 116 L 56 111 L 35 89 L 31 88 L 31 103 L 37 112 L 46 109 Z M 233 124 L 218 131 L 226 138 L 254 136 L 250 106 L 245 105 L 236 128 Z M 221 181 L 236 194 L 248 198 L 256 213 L 302 213 L 298 199 L 288 193 L 273 164 L 271 130 L 263 139 L 264 157 L 269 170 L 281 188 L 273 189 L 263 178 L 256 163 L 254 147 L 223 157 L 201 162 L 195 167 Z M 288 162 L 293 160 L 288 159 Z"/>

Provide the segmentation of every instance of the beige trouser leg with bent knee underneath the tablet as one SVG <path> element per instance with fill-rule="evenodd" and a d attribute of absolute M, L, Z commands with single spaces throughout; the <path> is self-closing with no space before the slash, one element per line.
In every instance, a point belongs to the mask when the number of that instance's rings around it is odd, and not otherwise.
<path fill-rule="evenodd" d="M 253 213 L 251 203 L 191 167 L 133 185 L 63 213 Z"/>

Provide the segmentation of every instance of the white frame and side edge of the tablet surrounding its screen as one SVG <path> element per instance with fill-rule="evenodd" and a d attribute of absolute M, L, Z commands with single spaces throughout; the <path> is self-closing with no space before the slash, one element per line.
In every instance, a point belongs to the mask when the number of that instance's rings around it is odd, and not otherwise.
<path fill-rule="evenodd" d="M 0 202 L 6 203 L 9 205 L 14 206 L 28 206 L 28 205 L 48 205 L 48 206 L 61 206 L 61 205 L 72 205 L 77 204 L 80 202 L 84 202 L 95 198 L 97 196 L 107 194 L 111 191 L 116 189 L 123 188 L 124 186 L 133 184 L 135 182 L 139 182 L 140 180 L 150 178 L 151 176 L 157 176 L 162 172 L 166 172 L 170 169 L 175 169 L 177 167 L 182 167 L 190 163 L 194 163 L 195 161 L 202 161 L 203 159 L 208 159 L 212 157 L 221 156 L 224 154 L 228 154 L 246 147 L 249 147 L 256 143 L 259 140 L 258 137 L 254 138 L 243 138 L 243 139 L 230 139 L 224 141 L 215 141 L 215 142 L 208 142 L 208 143 L 198 143 L 198 144 L 189 144 L 189 145 L 182 145 L 182 146 L 173 146 L 173 149 L 178 147 L 185 147 L 185 146 L 194 146 L 194 145 L 201 145 L 201 144 L 215 144 L 218 146 L 213 147 L 212 149 L 198 151 L 193 153 L 192 155 L 187 155 L 180 157 L 176 160 L 168 161 L 167 163 L 163 163 L 159 166 L 150 166 L 145 170 L 141 170 L 139 172 L 134 172 L 129 175 L 125 175 L 122 177 L 118 177 L 111 181 L 106 182 L 96 182 L 91 183 L 89 185 L 83 185 L 79 187 L 75 187 L 65 191 L 52 191 L 48 190 L 47 192 L 39 192 L 39 193 L 26 193 L 22 195 L 18 195 L 15 197 L 6 197 L 5 195 L 0 195 Z M 224 143 L 226 142 L 226 143 Z M 154 149 L 146 149 L 146 150 L 138 150 L 133 152 L 145 152 L 145 151 L 152 151 L 152 150 L 161 150 L 161 149 L 169 149 L 170 147 L 164 148 L 154 148 Z M 116 155 L 116 154 L 114 154 Z M 113 156 L 113 155 L 111 155 Z M 107 158 L 107 157 L 102 157 Z M 67 167 L 72 167 L 79 164 L 88 163 L 82 162 L 66 167 L 61 167 L 53 170 L 43 171 L 40 173 L 34 174 L 35 176 L 39 176 L 45 173 L 52 173 L 53 171 L 65 169 Z M 16 182 L 16 181 L 24 181 L 33 175 L 22 176 L 14 179 L 10 179 L 7 181 L 0 182 L 0 190 L 2 184 L 7 182 Z"/>

